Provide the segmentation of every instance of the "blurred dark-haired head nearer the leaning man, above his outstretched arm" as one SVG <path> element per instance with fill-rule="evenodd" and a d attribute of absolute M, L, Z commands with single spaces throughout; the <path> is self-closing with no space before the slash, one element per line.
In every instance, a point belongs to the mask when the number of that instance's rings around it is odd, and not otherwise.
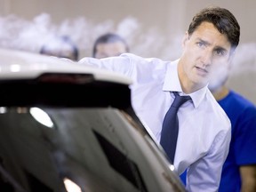
<path fill-rule="evenodd" d="M 129 52 L 129 47 L 123 37 L 114 33 L 99 36 L 92 48 L 92 57 L 97 59 L 118 56 Z"/>

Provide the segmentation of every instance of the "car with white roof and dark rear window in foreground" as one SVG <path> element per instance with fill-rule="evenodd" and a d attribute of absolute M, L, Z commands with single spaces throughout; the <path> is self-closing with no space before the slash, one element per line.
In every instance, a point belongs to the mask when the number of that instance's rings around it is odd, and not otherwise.
<path fill-rule="evenodd" d="M 0 191 L 185 191 L 131 106 L 132 80 L 0 50 Z"/>

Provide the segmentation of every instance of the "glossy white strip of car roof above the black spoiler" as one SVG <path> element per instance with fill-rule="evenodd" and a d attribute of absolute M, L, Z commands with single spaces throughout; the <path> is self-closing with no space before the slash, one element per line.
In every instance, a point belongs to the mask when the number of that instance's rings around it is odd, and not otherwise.
<path fill-rule="evenodd" d="M 132 79 L 116 72 L 81 65 L 68 59 L 11 49 L 0 49 L 0 80 L 36 78 L 44 73 L 91 74 L 95 80 L 132 84 Z"/>

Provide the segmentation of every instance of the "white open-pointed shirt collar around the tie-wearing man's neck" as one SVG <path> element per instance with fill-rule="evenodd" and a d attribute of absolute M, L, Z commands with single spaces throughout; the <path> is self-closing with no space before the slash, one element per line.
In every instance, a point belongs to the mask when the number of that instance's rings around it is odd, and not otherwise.
<path fill-rule="evenodd" d="M 179 59 L 180 60 L 180 59 Z M 178 76 L 178 62 L 179 60 L 174 60 L 171 63 L 169 63 L 165 77 L 164 77 L 164 85 L 163 85 L 163 91 L 164 92 L 180 92 L 180 95 L 186 95 L 184 92 L 182 92 L 182 88 L 180 85 L 180 79 Z M 188 94 L 191 99 L 193 100 L 194 107 L 197 108 L 202 100 L 204 100 L 204 96 L 207 92 L 208 88 L 207 85 L 201 88 L 200 90 L 197 90 L 196 92 L 192 92 Z"/>

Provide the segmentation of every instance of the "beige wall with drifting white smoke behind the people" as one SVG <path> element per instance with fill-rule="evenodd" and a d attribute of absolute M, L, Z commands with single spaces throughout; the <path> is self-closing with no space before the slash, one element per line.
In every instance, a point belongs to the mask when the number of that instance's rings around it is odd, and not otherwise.
<path fill-rule="evenodd" d="M 92 56 L 95 39 L 115 32 L 130 52 L 177 59 L 192 17 L 208 5 L 234 13 L 241 27 L 228 84 L 256 103 L 255 0 L 0 0 L 0 46 L 39 52 L 54 36 L 68 36 L 79 59 Z"/>

